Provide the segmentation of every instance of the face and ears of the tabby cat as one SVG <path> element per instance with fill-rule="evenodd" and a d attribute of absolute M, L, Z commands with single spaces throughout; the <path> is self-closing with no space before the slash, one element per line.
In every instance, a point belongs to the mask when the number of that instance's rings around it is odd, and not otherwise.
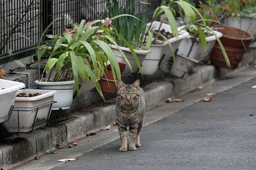
<path fill-rule="evenodd" d="M 139 80 L 132 85 L 126 85 L 122 80 L 118 80 L 118 103 L 119 104 L 137 104 L 139 100 Z"/>

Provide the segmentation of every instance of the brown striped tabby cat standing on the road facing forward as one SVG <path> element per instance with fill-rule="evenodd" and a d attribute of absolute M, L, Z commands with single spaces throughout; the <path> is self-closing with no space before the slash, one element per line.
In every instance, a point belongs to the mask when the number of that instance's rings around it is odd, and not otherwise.
<path fill-rule="evenodd" d="M 120 152 L 127 151 L 127 130 L 129 127 L 130 151 L 140 147 L 139 133 L 143 126 L 144 115 L 147 106 L 147 97 L 142 88 L 139 87 L 139 80 L 132 85 L 126 85 L 122 80 L 117 84 L 117 122 L 121 138 Z"/>

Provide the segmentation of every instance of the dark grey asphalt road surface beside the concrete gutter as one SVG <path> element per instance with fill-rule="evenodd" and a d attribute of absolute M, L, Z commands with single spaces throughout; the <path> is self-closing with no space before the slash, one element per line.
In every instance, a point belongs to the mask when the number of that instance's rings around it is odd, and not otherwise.
<path fill-rule="evenodd" d="M 137 151 L 120 153 L 117 139 L 52 170 L 256 170 L 251 85 L 256 79 L 149 124 Z"/>

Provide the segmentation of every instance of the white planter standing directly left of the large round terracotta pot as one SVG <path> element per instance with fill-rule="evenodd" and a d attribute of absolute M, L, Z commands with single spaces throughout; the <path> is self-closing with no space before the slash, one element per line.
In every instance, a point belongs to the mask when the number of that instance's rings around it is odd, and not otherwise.
<path fill-rule="evenodd" d="M 184 27 L 184 26 L 181 26 L 179 28 L 182 28 L 182 27 Z M 217 31 L 214 31 L 214 33 L 217 35 L 218 38 L 222 37 L 222 33 L 217 32 Z M 187 36 L 186 38 L 184 38 L 182 40 L 177 54 L 181 55 L 181 56 L 189 57 L 191 59 L 196 59 L 196 60 L 199 60 L 202 62 L 209 60 L 210 52 L 212 51 L 213 46 L 216 42 L 216 37 L 214 35 L 206 37 L 207 45 L 206 45 L 205 50 L 203 50 L 201 42 L 199 42 L 198 44 L 194 43 L 193 47 L 192 47 L 192 51 L 189 54 L 190 48 L 192 46 L 192 41 L 190 38 L 191 38 L 191 36 Z M 188 54 L 189 54 L 189 56 L 188 56 Z"/>

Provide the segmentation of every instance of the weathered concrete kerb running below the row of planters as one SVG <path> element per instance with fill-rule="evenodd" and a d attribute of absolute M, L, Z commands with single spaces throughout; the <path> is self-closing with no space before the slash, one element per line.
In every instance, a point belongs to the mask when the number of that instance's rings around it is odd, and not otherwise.
<path fill-rule="evenodd" d="M 212 66 L 200 66 L 195 68 L 194 71 L 195 73 L 186 80 L 168 78 L 165 81 L 147 85 L 144 90 L 148 96 L 148 109 L 155 108 L 159 103 L 165 102 L 167 97 L 180 96 L 200 85 L 205 86 L 215 81 L 216 70 Z M 227 90 L 255 77 L 255 68 L 232 72 L 229 74 L 229 79 L 225 80 L 229 81 L 231 85 L 226 87 L 224 85 L 222 90 Z M 185 101 L 184 104 L 192 103 L 191 101 L 190 103 Z M 178 107 L 174 108 L 174 110 L 178 109 Z M 150 122 L 161 119 L 163 116 L 157 115 Z M 6 170 L 24 161 L 31 160 L 34 156 L 55 150 L 56 144 L 68 144 L 74 139 L 86 136 L 86 133 L 111 124 L 115 119 L 115 102 L 109 100 L 90 110 L 80 110 L 73 114 L 72 119 L 61 122 L 55 127 L 37 129 L 32 134 L 22 134 L 15 139 L 10 139 L 8 144 L 0 144 L 0 168 Z M 148 123 L 146 120 L 146 124 Z"/>

